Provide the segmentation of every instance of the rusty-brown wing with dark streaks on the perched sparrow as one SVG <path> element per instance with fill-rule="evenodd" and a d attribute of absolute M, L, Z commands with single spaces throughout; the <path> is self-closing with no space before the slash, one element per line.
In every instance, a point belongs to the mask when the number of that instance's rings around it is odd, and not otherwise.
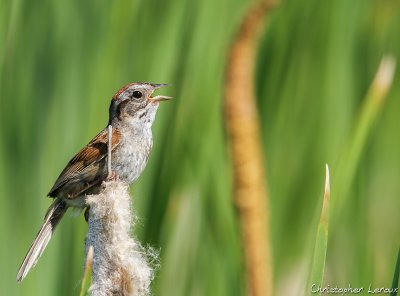
<path fill-rule="evenodd" d="M 118 146 L 120 139 L 120 131 L 113 127 L 111 139 L 112 150 Z M 47 195 L 56 197 L 69 182 L 77 182 L 77 177 L 82 178 L 79 179 L 82 185 L 85 183 L 88 185 L 92 184 L 93 180 L 91 180 L 90 177 L 93 176 L 93 173 L 85 174 L 85 171 L 90 172 L 95 169 L 95 164 L 107 156 L 107 146 L 108 130 L 105 128 L 69 161 Z M 87 176 L 88 180 L 85 180 L 85 176 Z"/>

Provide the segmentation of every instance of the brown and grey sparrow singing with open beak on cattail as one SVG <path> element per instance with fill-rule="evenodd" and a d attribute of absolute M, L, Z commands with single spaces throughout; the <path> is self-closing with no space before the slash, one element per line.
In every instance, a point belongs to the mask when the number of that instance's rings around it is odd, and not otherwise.
<path fill-rule="evenodd" d="M 171 99 L 161 95 L 153 97 L 152 94 L 166 85 L 130 83 L 112 97 L 107 127 L 68 162 L 50 189 L 48 196 L 54 201 L 21 264 L 18 283 L 35 266 L 68 208 L 87 208 L 85 196 L 100 192 L 102 182 L 108 178 L 108 143 L 111 144 L 114 177 L 131 184 L 141 175 L 153 146 L 151 126 L 158 105 Z M 110 138 L 109 130 L 112 131 Z M 86 214 L 87 209 L 87 218 Z"/>

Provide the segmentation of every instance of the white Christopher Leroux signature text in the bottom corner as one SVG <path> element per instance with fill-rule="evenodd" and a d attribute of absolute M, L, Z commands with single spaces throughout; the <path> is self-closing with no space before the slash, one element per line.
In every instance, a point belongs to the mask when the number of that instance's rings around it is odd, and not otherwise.
<path fill-rule="evenodd" d="M 365 287 L 352 287 L 351 284 L 348 284 L 346 287 L 338 287 L 327 285 L 325 287 L 321 287 L 318 284 L 311 285 L 311 293 L 313 294 L 360 294 L 368 292 L 368 294 L 391 294 L 397 293 L 399 288 L 388 288 L 388 287 L 373 287 L 372 284 L 369 284 L 368 289 Z"/>

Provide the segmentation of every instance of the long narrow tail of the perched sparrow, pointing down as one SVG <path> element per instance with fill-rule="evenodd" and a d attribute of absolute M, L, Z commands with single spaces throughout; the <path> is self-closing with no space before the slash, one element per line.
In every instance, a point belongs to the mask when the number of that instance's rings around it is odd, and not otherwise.
<path fill-rule="evenodd" d="M 36 262 L 39 260 L 44 249 L 50 241 L 50 238 L 61 218 L 67 211 L 67 204 L 61 199 L 55 199 L 47 210 L 46 216 L 44 217 L 44 222 L 40 228 L 35 240 L 32 243 L 28 253 L 25 256 L 24 261 L 19 268 L 17 274 L 17 282 L 20 283 L 28 274 L 28 272 L 35 266 Z"/>

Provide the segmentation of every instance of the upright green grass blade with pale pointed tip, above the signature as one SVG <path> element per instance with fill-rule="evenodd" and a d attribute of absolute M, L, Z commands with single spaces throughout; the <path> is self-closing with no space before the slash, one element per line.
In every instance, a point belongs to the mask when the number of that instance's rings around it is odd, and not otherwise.
<path fill-rule="evenodd" d="M 322 281 L 324 278 L 326 249 L 328 246 L 329 199 L 330 177 L 329 167 L 328 165 L 326 165 L 324 200 L 322 203 L 321 217 L 318 224 L 317 237 L 315 240 L 314 254 L 312 259 L 312 267 L 307 289 L 310 289 L 313 284 L 322 285 Z"/>

